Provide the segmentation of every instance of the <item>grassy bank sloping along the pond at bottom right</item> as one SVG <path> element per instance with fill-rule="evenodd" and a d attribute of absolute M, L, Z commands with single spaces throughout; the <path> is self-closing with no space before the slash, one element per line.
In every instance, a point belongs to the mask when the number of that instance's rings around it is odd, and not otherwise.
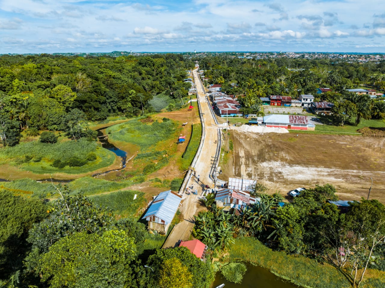
<path fill-rule="evenodd" d="M 227 260 L 249 261 L 254 265 L 267 268 L 275 275 L 303 287 L 351 287 L 351 282 L 347 279 L 346 274 L 337 268 L 327 263 L 318 263 L 315 260 L 303 256 L 293 256 L 287 255 L 285 252 L 273 251 L 251 237 L 236 239 L 236 242 L 230 247 Z M 350 275 L 350 271 L 347 274 Z M 360 287 L 384 287 L 385 272 L 377 271 L 377 273 L 373 273 L 373 271 L 371 271 L 368 275 L 369 277 L 370 275 L 376 275 L 376 278 L 366 278 Z"/>

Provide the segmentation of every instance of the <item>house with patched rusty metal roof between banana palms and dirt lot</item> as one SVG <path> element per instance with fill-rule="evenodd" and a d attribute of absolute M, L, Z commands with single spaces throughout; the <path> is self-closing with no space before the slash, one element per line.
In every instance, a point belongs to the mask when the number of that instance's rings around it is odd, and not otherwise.
<path fill-rule="evenodd" d="M 215 201 L 217 207 L 242 210 L 246 206 L 255 204 L 258 199 L 251 197 L 247 191 L 224 188 L 217 191 Z"/>

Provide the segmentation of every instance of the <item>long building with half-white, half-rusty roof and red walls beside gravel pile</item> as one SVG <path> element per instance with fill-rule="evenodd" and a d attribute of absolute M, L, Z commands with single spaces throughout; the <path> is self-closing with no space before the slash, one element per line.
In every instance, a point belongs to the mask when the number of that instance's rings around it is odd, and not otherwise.
<path fill-rule="evenodd" d="M 273 114 L 263 117 L 266 127 L 278 127 L 295 130 L 308 130 L 308 117 L 300 115 Z"/>

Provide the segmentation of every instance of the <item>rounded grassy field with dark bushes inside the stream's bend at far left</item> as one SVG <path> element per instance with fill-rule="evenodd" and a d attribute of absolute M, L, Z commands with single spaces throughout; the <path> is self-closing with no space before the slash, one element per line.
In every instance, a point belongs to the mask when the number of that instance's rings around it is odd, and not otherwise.
<path fill-rule="evenodd" d="M 89 161 L 80 167 L 53 167 L 52 163 L 59 159 L 62 162 L 72 158 L 86 159 L 90 153 L 95 153 L 97 159 Z M 37 174 L 67 173 L 81 174 L 110 166 L 115 161 L 115 154 L 100 147 L 94 141 L 80 139 L 79 141 L 62 140 L 55 144 L 39 141 L 22 142 L 14 147 L 0 150 L 0 165 L 10 163 L 20 169 Z"/>

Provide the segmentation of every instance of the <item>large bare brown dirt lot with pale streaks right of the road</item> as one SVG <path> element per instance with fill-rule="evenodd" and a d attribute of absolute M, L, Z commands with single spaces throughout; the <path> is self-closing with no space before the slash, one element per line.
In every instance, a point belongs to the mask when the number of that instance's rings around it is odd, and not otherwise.
<path fill-rule="evenodd" d="M 232 131 L 233 157 L 221 167 L 228 177 L 256 179 L 269 193 L 333 184 L 343 200 L 385 203 L 385 139 L 294 133 Z M 287 199 L 290 199 L 287 197 Z"/>

